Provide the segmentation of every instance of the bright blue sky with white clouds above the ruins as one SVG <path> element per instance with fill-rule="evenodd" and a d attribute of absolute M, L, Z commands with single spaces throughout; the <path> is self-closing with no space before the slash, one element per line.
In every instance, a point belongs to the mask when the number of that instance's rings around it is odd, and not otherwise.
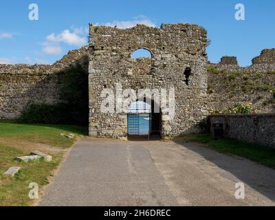
<path fill-rule="evenodd" d="M 30 21 L 30 3 L 39 5 L 39 21 Z M 236 21 L 234 6 L 245 5 L 245 21 Z M 264 48 L 275 47 L 275 1 L 86 1 L 9 0 L 0 8 L 0 63 L 54 63 L 68 50 L 87 44 L 88 23 L 195 23 L 208 30 L 208 58 L 237 56 L 239 64 Z"/>

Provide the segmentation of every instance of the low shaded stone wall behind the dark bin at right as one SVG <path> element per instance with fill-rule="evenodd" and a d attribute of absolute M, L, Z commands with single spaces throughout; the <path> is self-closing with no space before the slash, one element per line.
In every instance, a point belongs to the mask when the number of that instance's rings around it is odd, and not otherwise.
<path fill-rule="evenodd" d="M 210 115 L 209 119 L 211 133 L 212 124 L 222 122 L 224 137 L 275 148 L 275 114 Z"/>

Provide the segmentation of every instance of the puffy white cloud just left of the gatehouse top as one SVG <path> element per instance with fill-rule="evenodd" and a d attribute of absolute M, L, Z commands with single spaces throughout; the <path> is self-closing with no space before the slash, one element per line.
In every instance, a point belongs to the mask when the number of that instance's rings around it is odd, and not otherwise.
<path fill-rule="evenodd" d="M 78 30 L 80 32 L 80 30 Z M 68 45 L 83 46 L 87 43 L 85 37 L 78 36 L 77 32 L 70 32 L 69 30 L 64 30 L 61 34 L 50 34 L 47 36 L 47 41 L 54 43 L 67 43 Z"/>

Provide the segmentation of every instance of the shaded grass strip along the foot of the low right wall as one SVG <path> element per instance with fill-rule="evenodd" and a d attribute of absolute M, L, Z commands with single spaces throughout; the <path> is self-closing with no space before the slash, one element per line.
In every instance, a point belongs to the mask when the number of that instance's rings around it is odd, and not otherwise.
<path fill-rule="evenodd" d="M 275 149 L 241 142 L 235 139 L 213 140 L 209 134 L 192 134 L 175 137 L 176 142 L 199 142 L 220 153 L 238 155 L 259 164 L 275 168 Z"/>

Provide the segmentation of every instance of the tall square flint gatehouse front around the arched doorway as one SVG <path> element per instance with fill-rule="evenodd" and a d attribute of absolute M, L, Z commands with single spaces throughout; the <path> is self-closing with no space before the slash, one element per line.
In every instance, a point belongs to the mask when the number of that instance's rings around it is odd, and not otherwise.
<path fill-rule="evenodd" d="M 102 113 L 102 89 L 121 83 L 122 89 L 175 88 L 175 118 L 162 115 L 162 136 L 199 131 L 207 112 L 206 30 L 198 25 L 162 25 L 149 28 L 95 27 L 89 39 L 89 135 L 125 137 L 126 113 Z M 136 72 L 131 53 L 138 48 L 152 54 L 151 72 Z M 189 84 L 184 70 L 191 68 Z"/>

